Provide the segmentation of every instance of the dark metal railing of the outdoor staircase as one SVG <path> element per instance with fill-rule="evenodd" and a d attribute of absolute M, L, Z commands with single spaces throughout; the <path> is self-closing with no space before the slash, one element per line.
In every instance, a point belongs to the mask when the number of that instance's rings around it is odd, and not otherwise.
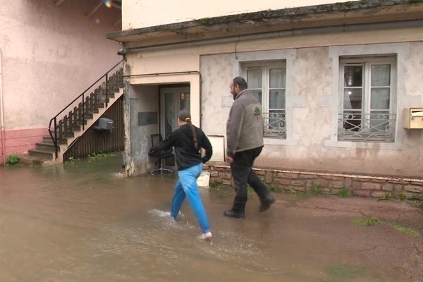
<path fill-rule="evenodd" d="M 123 61 L 123 60 L 122 60 Z M 82 92 L 78 97 L 73 99 L 71 103 L 66 105 L 61 111 L 59 111 L 56 116 L 51 118 L 49 123 L 49 135 L 51 140 L 54 143 L 54 154 L 56 159 L 58 157 L 58 145 L 59 140 L 63 138 L 63 136 L 67 135 L 68 133 L 73 133 L 75 128 L 80 128 L 82 126 L 82 130 L 85 129 L 86 123 L 86 116 L 88 114 L 93 114 L 99 108 L 107 108 L 109 103 L 109 92 L 115 91 L 117 88 L 123 86 L 123 68 L 119 68 L 118 71 L 109 75 L 112 71 L 119 66 L 122 61 L 116 63 L 113 68 L 107 71 L 101 78 L 96 80 L 90 87 L 87 88 L 84 92 Z M 100 82 L 104 80 L 103 82 Z M 93 92 L 90 94 L 86 94 L 88 90 L 92 89 L 94 85 L 99 85 Z M 80 102 L 78 102 L 78 100 Z M 72 109 L 73 106 L 73 109 Z M 71 109 L 65 116 L 63 116 L 58 121 L 58 117 L 66 111 L 66 109 Z M 53 126 L 53 128 L 51 128 Z"/>

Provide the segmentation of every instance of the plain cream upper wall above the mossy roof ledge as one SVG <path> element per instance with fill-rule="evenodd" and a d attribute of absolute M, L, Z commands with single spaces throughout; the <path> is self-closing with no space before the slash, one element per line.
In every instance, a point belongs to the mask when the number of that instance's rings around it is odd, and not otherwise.
<path fill-rule="evenodd" d="M 179 23 L 200 18 L 212 18 L 238 13 L 276 10 L 300 6 L 312 6 L 346 2 L 345 0 L 125 0 L 122 3 L 122 29 L 149 27 L 168 23 Z"/>

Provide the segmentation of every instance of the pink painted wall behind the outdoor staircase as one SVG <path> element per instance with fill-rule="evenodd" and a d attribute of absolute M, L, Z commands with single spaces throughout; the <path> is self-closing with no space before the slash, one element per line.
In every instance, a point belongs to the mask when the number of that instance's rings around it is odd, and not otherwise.
<path fill-rule="evenodd" d="M 105 36 L 121 30 L 120 10 L 102 6 L 87 18 L 98 0 L 54 2 L 0 5 L 6 154 L 35 147 L 50 118 L 121 60 L 119 44 Z"/>

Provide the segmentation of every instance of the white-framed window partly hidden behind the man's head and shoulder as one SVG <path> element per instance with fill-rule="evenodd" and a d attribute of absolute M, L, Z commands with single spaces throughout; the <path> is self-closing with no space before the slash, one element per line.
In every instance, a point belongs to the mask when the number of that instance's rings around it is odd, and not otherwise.
<path fill-rule="evenodd" d="M 263 108 L 264 137 L 286 138 L 286 66 L 284 63 L 245 65 L 248 90 Z"/>

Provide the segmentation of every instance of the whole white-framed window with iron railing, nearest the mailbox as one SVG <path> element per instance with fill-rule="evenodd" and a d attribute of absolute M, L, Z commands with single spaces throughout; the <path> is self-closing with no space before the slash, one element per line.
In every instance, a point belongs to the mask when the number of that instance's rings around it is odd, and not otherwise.
<path fill-rule="evenodd" d="M 340 61 L 338 140 L 394 142 L 395 58 Z"/>

